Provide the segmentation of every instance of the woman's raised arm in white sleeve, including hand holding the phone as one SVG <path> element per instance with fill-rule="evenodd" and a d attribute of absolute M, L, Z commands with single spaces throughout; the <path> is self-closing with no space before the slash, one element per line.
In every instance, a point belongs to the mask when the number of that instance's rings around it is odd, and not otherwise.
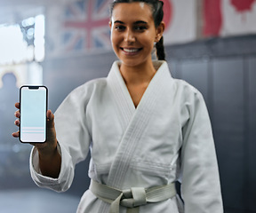
<path fill-rule="evenodd" d="M 48 136 L 51 146 L 35 145 L 30 154 L 30 173 L 36 185 L 64 192 L 72 184 L 76 163 L 86 158 L 91 142 L 85 114 L 88 97 L 86 87 L 77 88 L 62 102 L 54 116 L 48 114 L 52 121 L 52 128 L 51 123 L 48 126 L 48 131 L 52 132 Z M 19 114 L 17 111 L 16 116 Z M 18 122 L 19 119 L 15 124 Z M 19 132 L 13 136 L 19 137 Z"/>

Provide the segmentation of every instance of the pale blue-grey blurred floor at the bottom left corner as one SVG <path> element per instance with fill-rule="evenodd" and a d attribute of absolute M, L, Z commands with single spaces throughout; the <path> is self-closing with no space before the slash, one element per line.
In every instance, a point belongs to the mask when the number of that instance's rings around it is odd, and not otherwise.
<path fill-rule="evenodd" d="M 80 198 L 44 189 L 1 190 L 1 213 L 76 213 Z"/>

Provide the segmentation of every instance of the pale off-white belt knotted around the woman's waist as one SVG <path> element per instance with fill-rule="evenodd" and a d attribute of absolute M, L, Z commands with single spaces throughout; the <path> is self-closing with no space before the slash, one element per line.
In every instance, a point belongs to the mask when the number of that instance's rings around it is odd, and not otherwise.
<path fill-rule="evenodd" d="M 120 205 L 128 208 L 127 213 L 139 213 L 141 205 L 146 205 L 149 202 L 165 201 L 176 194 L 174 183 L 147 189 L 132 187 L 127 190 L 119 190 L 92 180 L 90 190 L 101 201 L 111 204 L 109 213 L 119 213 Z"/>

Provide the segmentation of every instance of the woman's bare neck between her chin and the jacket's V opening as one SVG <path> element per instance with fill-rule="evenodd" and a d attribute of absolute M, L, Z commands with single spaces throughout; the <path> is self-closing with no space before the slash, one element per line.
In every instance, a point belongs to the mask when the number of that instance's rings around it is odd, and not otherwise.
<path fill-rule="evenodd" d="M 153 63 L 135 67 L 129 67 L 121 64 L 120 72 L 124 78 L 124 82 L 127 85 L 138 85 L 141 83 L 149 83 L 153 76 L 156 74 L 156 69 L 153 66 Z"/>

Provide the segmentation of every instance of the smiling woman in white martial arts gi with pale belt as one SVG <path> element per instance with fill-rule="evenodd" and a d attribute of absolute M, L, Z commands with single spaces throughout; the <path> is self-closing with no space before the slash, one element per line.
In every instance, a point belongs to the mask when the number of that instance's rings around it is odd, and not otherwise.
<path fill-rule="evenodd" d="M 31 175 L 37 185 L 68 190 L 91 148 L 92 182 L 77 212 L 223 212 L 204 99 L 170 75 L 162 20 L 161 1 L 115 1 L 109 26 L 120 61 L 107 78 L 72 91 L 55 118 L 47 113 L 48 141 L 34 144 Z M 154 43 L 162 60 L 152 61 Z"/>

